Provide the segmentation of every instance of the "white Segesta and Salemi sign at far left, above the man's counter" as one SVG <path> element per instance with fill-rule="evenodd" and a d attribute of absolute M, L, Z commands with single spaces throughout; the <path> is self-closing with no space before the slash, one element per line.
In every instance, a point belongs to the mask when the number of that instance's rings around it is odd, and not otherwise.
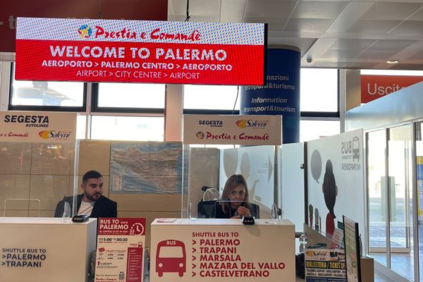
<path fill-rule="evenodd" d="M 0 111 L 0 142 L 73 143 L 76 113 Z"/>

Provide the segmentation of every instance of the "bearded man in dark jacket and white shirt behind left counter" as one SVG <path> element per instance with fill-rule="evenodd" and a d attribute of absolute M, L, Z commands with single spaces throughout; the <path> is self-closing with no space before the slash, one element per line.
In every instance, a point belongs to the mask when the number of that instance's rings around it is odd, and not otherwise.
<path fill-rule="evenodd" d="M 90 217 L 116 217 L 118 204 L 103 194 L 103 176 L 98 171 L 87 171 L 82 177 L 82 194 L 78 195 L 77 214 L 90 214 Z M 64 202 L 68 202 L 72 210 L 72 197 L 64 197 L 56 206 L 55 217 L 63 216 Z"/>

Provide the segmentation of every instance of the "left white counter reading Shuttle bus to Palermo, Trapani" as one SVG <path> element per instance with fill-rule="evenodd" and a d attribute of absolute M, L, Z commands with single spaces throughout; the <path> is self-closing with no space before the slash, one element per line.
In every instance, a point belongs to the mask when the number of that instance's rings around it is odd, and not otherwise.
<path fill-rule="evenodd" d="M 0 281 L 87 281 L 97 219 L 0 217 Z"/>

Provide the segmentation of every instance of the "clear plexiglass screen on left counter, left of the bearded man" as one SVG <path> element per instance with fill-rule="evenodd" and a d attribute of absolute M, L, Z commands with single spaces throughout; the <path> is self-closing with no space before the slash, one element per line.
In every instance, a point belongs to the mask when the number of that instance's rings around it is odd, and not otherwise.
<path fill-rule="evenodd" d="M 63 197 L 78 192 L 75 148 L 78 143 L 0 142 L 0 216 L 53 217 Z M 61 209 L 64 220 L 74 213 Z"/>

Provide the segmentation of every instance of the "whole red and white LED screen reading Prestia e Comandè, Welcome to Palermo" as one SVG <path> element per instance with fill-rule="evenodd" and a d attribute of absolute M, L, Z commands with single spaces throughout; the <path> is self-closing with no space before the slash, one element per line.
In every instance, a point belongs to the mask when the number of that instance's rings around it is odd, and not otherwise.
<path fill-rule="evenodd" d="M 264 85 L 265 25 L 18 18 L 16 80 Z"/>

